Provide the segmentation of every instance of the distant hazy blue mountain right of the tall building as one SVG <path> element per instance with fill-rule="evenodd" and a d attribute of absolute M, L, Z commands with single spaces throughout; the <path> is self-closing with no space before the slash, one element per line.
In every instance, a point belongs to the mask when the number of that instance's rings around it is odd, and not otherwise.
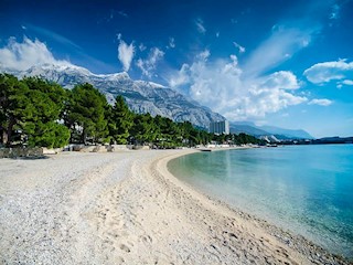
<path fill-rule="evenodd" d="M 284 129 L 275 126 L 256 126 L 249 121 L 232 121 L 229 124 L 231 132 L 233 134 L 248 134 L 271 141 L 288 140 L 288 139 L 313 139 L 307 131 Z"/>

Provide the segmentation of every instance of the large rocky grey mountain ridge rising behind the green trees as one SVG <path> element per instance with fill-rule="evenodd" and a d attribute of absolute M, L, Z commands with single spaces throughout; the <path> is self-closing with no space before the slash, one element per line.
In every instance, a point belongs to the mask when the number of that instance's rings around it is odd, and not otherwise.
<path fill-rule="evenodd" d="M 133 81 L 125 72 L 97 75 L 74 65 L 51 64 L 33 66 L 22 72 L 7 72 L 20 78 L 39 76 L 56 82 L 65 88 L 89 83 L 105 94 L 110 104 L 114 104 L 117 95 L 122 95 L 129 108 L 136 113 L 161 115 L 174 121 L 188 120 L 203 128 L 208 128 L 211 121 L 225 119 L 222 115 L 213 113 L 169 87 L 152 82 Z"/>

